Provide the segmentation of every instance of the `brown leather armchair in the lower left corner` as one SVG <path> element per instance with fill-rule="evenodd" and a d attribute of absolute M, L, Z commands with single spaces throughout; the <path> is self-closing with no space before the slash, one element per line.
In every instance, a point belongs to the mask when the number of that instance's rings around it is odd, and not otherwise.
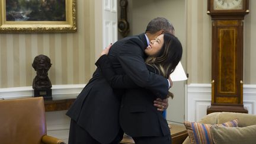
<path fill-rule="evenodd" d="M 43 97 L 0 100 L 0 117 L 3 144 L 65 144 L 46 135 Z"/>

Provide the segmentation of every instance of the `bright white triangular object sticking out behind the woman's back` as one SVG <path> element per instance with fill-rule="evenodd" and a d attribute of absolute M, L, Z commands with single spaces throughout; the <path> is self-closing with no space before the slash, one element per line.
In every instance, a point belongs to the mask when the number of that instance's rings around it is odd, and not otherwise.
<path fill-rule="evenodd" d="M 183 69 L 183 66 L 181 65 L 181 62 L 178 63 L 174 72 L 172 72 L 170 76 L 173 82 L 187 80 L 187 75 L 185 74 L 185 71 Z"/>

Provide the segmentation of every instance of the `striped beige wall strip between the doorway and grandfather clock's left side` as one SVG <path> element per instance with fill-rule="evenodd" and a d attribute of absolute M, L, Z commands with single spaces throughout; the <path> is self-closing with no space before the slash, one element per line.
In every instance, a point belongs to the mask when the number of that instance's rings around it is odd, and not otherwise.
<path fill-rule="evenodd" d="M 188 83 L 211 82 L 212 25 L 206 14 L 207 1 L 187 1 L 187 70 Z"/>

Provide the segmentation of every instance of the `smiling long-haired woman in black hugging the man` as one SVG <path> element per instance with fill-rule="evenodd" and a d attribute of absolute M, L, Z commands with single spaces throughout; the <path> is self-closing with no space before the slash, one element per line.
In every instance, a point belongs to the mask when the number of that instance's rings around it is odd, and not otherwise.
<path fill-rule="evenodd" d="M 121 128 L 133 137 L 136 144 L 171 143 L 167 120 L 152 105 L 158 95 L 153 94 L 150 89 L 127 88 L 126 84 L 131 85 L 132 80 L 127 75 L 116 75 L 113 71 L 107 57 L 109 49 L 110 46 L 103 50 L 95 64 L 111 87 L 125 88 L 120 106 Z M 169 78 L 181 60 L 183 48 L 177 37 L 165 33 L 150 41 L 145 53 L 148 55 L 145 63 L 149 71 Z M 171 92 L 167 97 L 173 98 Z"/>

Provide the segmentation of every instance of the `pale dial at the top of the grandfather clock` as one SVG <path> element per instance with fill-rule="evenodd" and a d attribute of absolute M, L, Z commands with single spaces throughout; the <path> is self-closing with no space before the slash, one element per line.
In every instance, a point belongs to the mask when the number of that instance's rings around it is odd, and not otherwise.
<path fill-rule="evenodd" d="M 215 10 L 228 10 L 228 9 L 242 9 L 242 0 L 214 0 L 213 9 Z"/>

